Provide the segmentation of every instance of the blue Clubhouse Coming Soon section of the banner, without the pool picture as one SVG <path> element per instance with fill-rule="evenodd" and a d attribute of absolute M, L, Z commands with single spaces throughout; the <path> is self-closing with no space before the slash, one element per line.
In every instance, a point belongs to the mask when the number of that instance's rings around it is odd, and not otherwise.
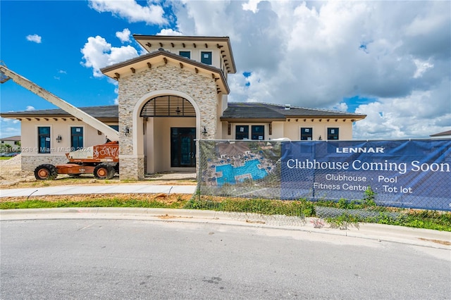
<path fill-rule="evenodd" d="M 451 140 L 285 142 L 282 199 L 362 199 L 451 210 Z"/>

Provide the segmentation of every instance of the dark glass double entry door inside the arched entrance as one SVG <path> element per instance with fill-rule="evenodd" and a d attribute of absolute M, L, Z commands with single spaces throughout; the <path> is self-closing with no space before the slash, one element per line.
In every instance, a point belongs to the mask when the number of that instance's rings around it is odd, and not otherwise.
<path fill-rule="evenodd" d="M 171 128 L 171 167 L 196 166 L 196 128 Z"/>

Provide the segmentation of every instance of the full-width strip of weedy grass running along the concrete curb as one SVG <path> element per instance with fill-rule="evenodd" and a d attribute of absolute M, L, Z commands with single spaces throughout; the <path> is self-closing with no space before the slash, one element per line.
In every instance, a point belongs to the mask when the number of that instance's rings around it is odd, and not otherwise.
<path fill-rule="evenodd" d="M 376 206 L 371 197 L 362 201 L 280 201 L 271 199 L 241 199 L 195 194 L 116 195 L 116 196 L 34 197 L 33 199 L 2 199 L 0 209 L 62 208 L 62 207 L 135 207 L 185 208 L 264 215 L 287 215 L 299 218 L 320 218 L 331 227 L 343 230 L 359 228 L 360 223 L 379 223 L 451 232 L 451 213 Z"/>

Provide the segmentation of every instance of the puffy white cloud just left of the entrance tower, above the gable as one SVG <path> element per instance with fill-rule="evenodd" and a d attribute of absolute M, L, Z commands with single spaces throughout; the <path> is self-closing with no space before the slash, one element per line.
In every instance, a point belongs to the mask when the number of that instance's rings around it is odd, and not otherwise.
<path fill-rule="evenodd" d="M 84 60 L 82 65 L 92 68 L 94 77 L 103 76 L 100 68 L 138 56 L 136 49 L 132 46 L 113 47 L 106 42 L 106 39 L 99 36 L 88 37 L 87 43 L 83 46 L 81 52 Z"/>

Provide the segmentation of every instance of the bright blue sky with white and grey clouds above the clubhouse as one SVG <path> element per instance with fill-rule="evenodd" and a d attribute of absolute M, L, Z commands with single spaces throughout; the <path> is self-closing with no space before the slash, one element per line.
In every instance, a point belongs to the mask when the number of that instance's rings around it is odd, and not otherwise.
<path fill-rule="evenodd" d="M 144 54 L 131 34 L 228 36 L 229 101 L 365 113 L 354 139 L 451 130 L 450 1 L 2 0 L 0 13 L 0 59 L 75 106 L 116 104 L 99 68 Z M 1 112 L 47 108 L 0 85 Z"/>

